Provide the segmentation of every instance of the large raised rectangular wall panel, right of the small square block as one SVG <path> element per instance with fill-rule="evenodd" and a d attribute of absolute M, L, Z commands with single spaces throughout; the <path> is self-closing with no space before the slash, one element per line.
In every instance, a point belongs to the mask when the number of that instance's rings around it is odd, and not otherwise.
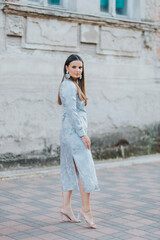
<path fill-rule="evenodd" d="M 102 54 L 137 56 L 141 50 L 141 32 L 102 26 L 99 50 Z"/>

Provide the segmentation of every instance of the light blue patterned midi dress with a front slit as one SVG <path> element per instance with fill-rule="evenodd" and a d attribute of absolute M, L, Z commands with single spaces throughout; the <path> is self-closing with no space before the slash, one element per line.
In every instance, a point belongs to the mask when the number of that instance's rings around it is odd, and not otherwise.
<path fill-rule="evenodd" d="M 81 179 L 84 191 L 100 191 L 91 151 L 81 136 L 87 135 L 85 101 L 80 101 L 75 84 L 66 78 L 60 86 L 64 113 L 60 131 L 60 178 L 62 191 L 78 190 Z M 75 161 L 78 171 L 75 169 Z"/>

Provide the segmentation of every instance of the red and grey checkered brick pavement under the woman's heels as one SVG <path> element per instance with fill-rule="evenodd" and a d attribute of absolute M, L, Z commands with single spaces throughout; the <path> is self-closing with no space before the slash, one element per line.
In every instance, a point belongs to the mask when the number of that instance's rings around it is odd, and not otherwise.
<path fill-rule="evenodd" d="M 99 169 L 97 229 L 62 222 L 59 175 L 0 181 L 0 240 L 160 240 L 160 163 Z M 81 206 L 73 192 L 75 215 Z"/>

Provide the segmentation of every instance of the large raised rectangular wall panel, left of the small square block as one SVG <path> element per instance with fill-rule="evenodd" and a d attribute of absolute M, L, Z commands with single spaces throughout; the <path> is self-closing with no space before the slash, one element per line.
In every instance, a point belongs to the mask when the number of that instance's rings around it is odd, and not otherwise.
<path fill-rule="evenodd" d="M 77 23 L 28 17 L 26 42 L 75 48 L 78 42 L 77 31 Z"/>

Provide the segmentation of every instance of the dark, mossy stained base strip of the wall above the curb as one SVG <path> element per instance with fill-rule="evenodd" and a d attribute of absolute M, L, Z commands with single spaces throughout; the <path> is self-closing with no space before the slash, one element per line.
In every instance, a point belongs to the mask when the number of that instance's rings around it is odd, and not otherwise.
<path fill-rule="evenodd" d="M 160 153 L 160 124 L 144 130 L 125 128 L 107 136 L 91 138 L 91 151 L 95 160 L 127 158 Z M 32 151 L 25 154 L 6 153 L 0 155 L 0 171 L 25 167 L 46 167 L 60 164 L 60 147 L 49 151 Z"/>

